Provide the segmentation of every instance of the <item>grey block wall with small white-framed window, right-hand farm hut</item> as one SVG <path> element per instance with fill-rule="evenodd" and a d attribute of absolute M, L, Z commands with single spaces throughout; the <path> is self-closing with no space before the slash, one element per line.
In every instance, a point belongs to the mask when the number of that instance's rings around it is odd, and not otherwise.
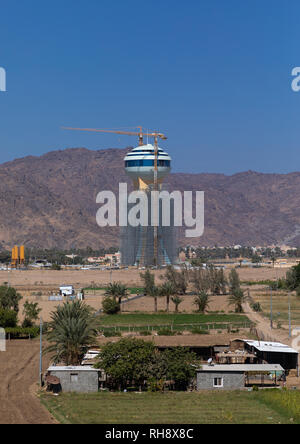
<path fill-rule="evenodd" d="M 223 378 L 222 388 L 214 387 L 214 378 Z M 245 375 L 241 372 L 198 372 L 197 390 L 239 390 L 245 388 Z"/>

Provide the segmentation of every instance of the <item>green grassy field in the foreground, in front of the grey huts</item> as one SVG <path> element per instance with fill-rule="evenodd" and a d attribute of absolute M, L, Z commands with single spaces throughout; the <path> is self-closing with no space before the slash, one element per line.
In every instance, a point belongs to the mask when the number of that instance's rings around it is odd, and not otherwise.
<path fill-rule="evenodd" d="M 96 393 L 41 396 L 63 424 L 287 424 L 300 422 L 300 393 Z M 292 420 L 291 420 L 292 419 Z"/>

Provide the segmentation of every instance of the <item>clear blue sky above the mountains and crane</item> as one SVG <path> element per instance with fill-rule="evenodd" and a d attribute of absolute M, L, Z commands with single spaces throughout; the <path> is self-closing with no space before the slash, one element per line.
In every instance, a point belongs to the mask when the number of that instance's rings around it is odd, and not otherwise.
<path fill-rule="evenodd" d="M 0 0 L 0 162 L 166 132 L 174 171 L 300 171 L 300 3 Z"/>

